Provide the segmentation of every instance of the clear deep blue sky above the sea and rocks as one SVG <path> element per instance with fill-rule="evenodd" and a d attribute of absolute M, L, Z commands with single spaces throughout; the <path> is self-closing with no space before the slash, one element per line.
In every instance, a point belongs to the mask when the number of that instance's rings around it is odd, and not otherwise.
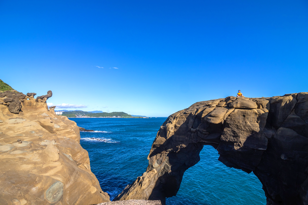
<path fill-rule="evenodd" d="M 239 89 L 308 92 L 306 0 L 0 0 L 0 31 L 0 79 L 68 110 L 167 117 Z"/>

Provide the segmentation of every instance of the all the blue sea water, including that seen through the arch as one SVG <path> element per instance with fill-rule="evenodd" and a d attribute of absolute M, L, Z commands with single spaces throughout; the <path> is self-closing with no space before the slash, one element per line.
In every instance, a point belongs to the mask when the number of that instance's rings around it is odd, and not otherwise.
<path fill-rule="evenodd" d="M 79 127 L 81 146 L 89 152 L 91 171 L 112 200 L 148 166 L 148 153 L 166 118 L 70 118 Z M 94 138 L 94 139 L 92 139 Z M 264 205 L 262 184 L 253 173 L 226 167 L 217 151 L 204 146 L 200 162 L 183 176 L 176 196 L 167 205 Z"/>

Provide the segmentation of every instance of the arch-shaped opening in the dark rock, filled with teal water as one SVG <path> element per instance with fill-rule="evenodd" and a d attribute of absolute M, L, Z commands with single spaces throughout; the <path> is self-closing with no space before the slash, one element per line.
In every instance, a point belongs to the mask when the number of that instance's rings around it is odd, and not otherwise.
<path fill-rule="evenodd" d="M 184 172 L 176 196 L 166 204 L 266 204 L 262 184 L 253 173 L 230 168 L 218 161 L 219 154 L 204 145 L 200 161 Z"/>

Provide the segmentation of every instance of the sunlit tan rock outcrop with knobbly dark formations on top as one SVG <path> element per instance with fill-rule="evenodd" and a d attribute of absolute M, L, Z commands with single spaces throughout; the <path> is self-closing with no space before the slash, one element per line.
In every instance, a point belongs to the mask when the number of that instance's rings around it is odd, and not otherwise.
<path fill-rule="evenodd" d="M 0 93 L 0 204 L 97 204 L 108 202 L 79 127 L 48 109 L 47 95 Z"/>

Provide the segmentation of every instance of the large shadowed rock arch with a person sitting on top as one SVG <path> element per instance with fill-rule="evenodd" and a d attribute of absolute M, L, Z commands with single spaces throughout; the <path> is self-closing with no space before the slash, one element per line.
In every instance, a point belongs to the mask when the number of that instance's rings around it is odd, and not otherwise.
<path fill-rule="evenodd" d="M 308 93 L 197 102 L 168 117 L 144 174 L 114 200 L 175 196 L 184 171 L 212 145 L 228 167 L 253 171 L 267 205 L 308 204 Z"/>

